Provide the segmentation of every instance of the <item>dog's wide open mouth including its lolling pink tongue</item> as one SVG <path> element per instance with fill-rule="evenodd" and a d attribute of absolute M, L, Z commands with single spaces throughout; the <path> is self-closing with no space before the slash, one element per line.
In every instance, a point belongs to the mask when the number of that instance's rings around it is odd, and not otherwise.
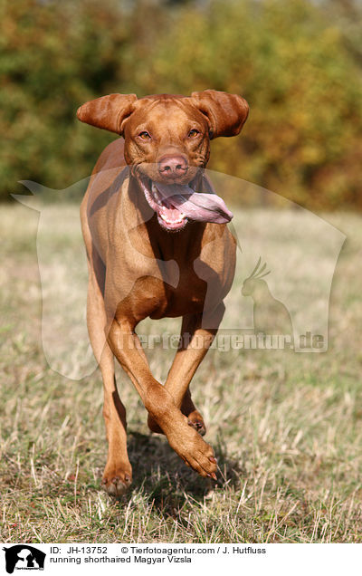
<path fill-rule="evenodd" d="M 161 184 L 147 177 L 139 182 L 158 223 L 167 230 L 182 230 L 188 220 L 226 224 L 233 218 L 223 198 L 213 192 L 196 192 L 191 184 Z"/>

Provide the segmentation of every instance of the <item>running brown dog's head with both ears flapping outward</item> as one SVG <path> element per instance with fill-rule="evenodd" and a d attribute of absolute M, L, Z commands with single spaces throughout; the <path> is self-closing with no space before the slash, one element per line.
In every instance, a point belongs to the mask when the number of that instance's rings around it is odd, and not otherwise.
<path fill-rule="evenodd" d="M 139 100 L 135 94 L 110 94 L 86 102 L 77 116 L 124 137 L 126 162 L 158 222 L 179 230 L 188 218 L 205 220 L 205 210 L 213 211 L 205 202 L 200 206 L 201 197 L 197 209 L 190 205 L 209 159 L 210 140 L 239 134 L 248 111 L 241 96 L 206 90 L 190 97 L 160 94 Z"/>

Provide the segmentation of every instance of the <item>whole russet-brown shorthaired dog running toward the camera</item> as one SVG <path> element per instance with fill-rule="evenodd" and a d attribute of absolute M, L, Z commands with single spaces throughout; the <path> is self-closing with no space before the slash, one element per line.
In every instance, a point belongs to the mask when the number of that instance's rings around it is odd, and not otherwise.
<path fill-rule="evenodd" d="M 201 437 L 205 424 L 188 387 L 223 318 L 235 241 L 225 226 L 233 215 L 203 168 L 210 139 L 235 136 L 247 115 L 243 98 L 212 90 L 140 100 L 110 94 L 78 110 L 81 121 L 124 138 L 101 154 L 81 204 L 87 322 L 104 384 L 109 454 L 103 485 L 109 494 L 122 494 L 132 477 L 114 356 L 148 410 L 150 429 L 166 434 L 200 475 L 216 477 L 214 451 Z M 186 338 L 165 386 L 152 376 L 135 333 L 148 316 L 183 317 Z"/>

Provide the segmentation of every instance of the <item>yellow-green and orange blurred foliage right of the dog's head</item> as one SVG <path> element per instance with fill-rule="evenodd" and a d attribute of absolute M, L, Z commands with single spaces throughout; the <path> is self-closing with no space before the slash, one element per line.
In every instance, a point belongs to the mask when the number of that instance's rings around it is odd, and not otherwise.
<path fill-rule="evenodd" d="M 315 5 L 241 0 L 188 7 L 159 35 L 152 56 L 138 67 L 138 83 L 152 91 L 212 86 L 249 101 L 243 138 L 215 142 L 210 168 L 305 206 L 362 207 L 361 70 L 338 25 Z"/>

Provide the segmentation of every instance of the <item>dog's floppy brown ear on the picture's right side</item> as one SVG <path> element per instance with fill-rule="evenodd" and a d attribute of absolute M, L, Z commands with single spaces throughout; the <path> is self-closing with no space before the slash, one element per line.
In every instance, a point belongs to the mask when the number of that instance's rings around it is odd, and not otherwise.
<path fill-rule="evenodd" d="M 205 90 L 193 92 L 191 100 L 209 121 L 211 139 L 236 136 L 249 114 L 248 102 L 238 94 Z"/>

